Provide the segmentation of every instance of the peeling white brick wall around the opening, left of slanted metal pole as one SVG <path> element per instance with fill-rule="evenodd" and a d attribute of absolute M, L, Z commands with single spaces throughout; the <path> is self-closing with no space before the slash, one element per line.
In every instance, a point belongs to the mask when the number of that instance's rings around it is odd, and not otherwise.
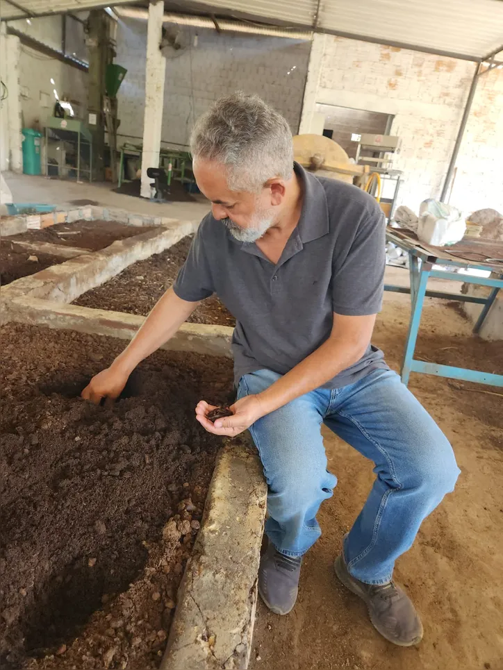
<path fill-rule="evenodd" d="M 390 133 L 402 144 L 393 165 L 404 171 L 398 203 L 417 210 L 438 197 L 475 64 L 331 35 L 316 40 L 319 67 L 303 118 L 316 103 L 394 115 Z"/>

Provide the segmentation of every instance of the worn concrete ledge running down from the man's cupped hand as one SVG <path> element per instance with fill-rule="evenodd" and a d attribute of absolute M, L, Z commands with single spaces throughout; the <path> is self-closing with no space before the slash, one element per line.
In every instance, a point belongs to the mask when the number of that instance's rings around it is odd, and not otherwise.
<path fill-rule="evenodd" d="M 160 670 L 248 667 L 267 487 L 249 437 L 228 445 L 217 457 Z"/>

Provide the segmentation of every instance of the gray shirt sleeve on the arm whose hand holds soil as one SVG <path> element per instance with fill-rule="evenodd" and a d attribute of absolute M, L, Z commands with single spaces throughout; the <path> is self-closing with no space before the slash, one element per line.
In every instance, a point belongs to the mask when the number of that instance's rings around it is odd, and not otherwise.
<path fill-rule="evenodd" d="M 333 311 L 347 316 L 380 312 L 385 267 L 386 224 L 376 203 L 365 209 L 347 250 L 333 262 Z"/>

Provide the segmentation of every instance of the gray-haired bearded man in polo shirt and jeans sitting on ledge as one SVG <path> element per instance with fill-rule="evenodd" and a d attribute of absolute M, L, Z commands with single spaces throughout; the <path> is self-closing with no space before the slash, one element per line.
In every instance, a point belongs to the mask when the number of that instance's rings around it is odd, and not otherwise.
<path fill-rule="evenodd" d="M 216 293 L 237 321 L 238 399 L 215 424 L 207 418 L 213 406 L 201 401 L 196 419 L 215 435 L 249 429 L 261 456 L 269 486 L 263 601 L 277 614 L 292 610 L 302 556 L 321 535 L 316 514 L 336 485 L 324 423 L 376 473 L 336 574 L 367 603 L 381 635 L 417 644 L 422 624 L 393 567 L 459 469 L 433 419 L 370 345 L 383 294 L 381 210 L 356 187 L 294 165 L 286 120 L 256 96 L 217 101 L 197 122 L 191 148 L 211 214 L 173 287 L 83 396 L 117 397 L 135 366 Z"/>

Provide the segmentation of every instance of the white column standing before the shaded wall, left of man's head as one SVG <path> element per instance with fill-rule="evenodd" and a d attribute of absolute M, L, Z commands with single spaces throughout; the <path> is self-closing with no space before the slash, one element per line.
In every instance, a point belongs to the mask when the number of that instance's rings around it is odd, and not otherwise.
<path fill-rule="evenodd" d="M 150 197 L 151 178 L 147 168 L 159 167 L 160 131 L 163 124 L 166 62 L 160 52 L 164 1 L 149 5 L 147 25 L 147 66 L 145 67 L 145 115 L 143 117 L 142 185 L 140 195 Z"/>

